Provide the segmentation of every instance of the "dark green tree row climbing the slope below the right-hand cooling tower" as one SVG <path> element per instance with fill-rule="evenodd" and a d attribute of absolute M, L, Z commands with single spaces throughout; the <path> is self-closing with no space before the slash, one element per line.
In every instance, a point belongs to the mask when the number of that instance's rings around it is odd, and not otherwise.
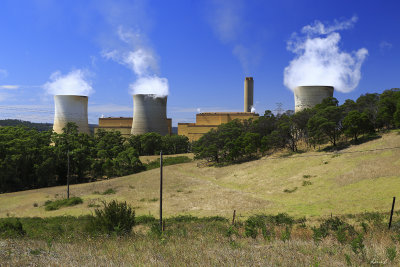
<path fill-rule="evenodd" d="M 328 97 L 321 104 L 300 112 L 274 115 L 270 110 L 257 119 L 234 120 L 203 135 L 192 145 L 195 158 L 216 163 L 248 160 L 270 151 L 298 151 L 300 142 L 309 147 L 330 143 L 337 147 L 343 137 L 357 142 L 364 134 L 400 127 L 400 89 L 361 95 L 342 105 Z"/>

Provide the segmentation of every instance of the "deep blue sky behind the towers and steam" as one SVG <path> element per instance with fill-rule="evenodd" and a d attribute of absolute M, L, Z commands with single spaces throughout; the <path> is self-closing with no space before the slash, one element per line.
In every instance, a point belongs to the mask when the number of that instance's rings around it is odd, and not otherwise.
<path fill-rule="evenodd" d="M 254 77 L 258 113 L 276 103 L 294 109 L 284 70 L 306 53 L 295 54 L 288 42 L 299 48 L 330 34 L 340 36 L 334 44 L 340 56 L 328 55 L 321 64 L 333 60 L 340 73 L 346 66 L 336 60 L 344 56 L 352 73 L 341 74 L 351 80 L 343 87 L 350 92 L 334 96 L 343 103 L 380 93 L 400 86 L 399 10 L 399 1 L 365 0 L 3 0 L 0 118 L 51 122 L 53 99 L 45 85 L 71 73 L 92 88 L 90 123 L 101 115 L 132 116 L 132 87 L 142 74 L 127 55 L 138 50 L 150 55 L 145 75 L 168 81 L 174 125 L 194 121 L 198 109 L 242 111 L 246 76 Z M 313 30 L 302 30 L 307 25 Z M 365 53 L 357 58 L 357 51 Z M 318 72 L 308 66 L 300 64 L 301 75 Z M 332 81 L 337 76 L 330 70 L 321 73 Z"/>

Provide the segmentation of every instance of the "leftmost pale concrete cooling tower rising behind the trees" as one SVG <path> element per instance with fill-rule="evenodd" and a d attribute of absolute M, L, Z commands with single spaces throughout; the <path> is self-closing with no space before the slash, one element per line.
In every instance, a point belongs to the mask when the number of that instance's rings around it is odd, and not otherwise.
<path fill-rule="evenodd" d="M 90 133 L 87 113 L 87 96 L 55 95 L 54 105 L 54 132 L 62 133 L 62 129 L 67 122 L 75 122 L 80 133 Z"/>

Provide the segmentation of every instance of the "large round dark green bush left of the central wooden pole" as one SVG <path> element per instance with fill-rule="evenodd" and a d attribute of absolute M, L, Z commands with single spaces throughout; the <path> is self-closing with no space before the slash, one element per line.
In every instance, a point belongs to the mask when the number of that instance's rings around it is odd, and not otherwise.
<path fill-rule="evenodd" d="M 95 210 L 91 230 L 116 235 L 129 234 L 135 225 L 135 211 L 126 202 L 103 202 L 104 209 Z"/>

